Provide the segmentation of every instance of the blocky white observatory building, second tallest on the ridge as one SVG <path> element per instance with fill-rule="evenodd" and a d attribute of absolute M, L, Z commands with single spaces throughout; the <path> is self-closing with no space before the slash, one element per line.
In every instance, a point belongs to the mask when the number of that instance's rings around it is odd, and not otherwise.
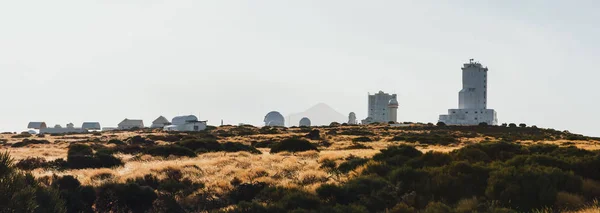
<path fill-rule="evenodd" d="M 369 95 L 369 117 L 362 120 L 363 124 L 387 123 L 398 121 L 398 100 L 396 94 L 379 91 Z"/>

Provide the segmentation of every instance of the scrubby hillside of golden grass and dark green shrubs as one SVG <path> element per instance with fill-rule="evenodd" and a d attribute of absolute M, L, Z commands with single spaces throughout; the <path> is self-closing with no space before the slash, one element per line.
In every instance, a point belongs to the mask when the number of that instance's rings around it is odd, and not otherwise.
<path fill-rule="evenodd" d="M 598 212 L 599 141 L 516 124 L 1 134 L 0 212 Z"/>

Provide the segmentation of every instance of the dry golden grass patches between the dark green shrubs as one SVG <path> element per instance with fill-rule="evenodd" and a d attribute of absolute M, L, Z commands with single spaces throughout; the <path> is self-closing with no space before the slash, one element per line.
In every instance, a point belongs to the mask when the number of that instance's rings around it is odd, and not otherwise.
<path fill-rule="evenodd" d="M 222 127 L 232 128 L 232 127 Z M 339 127 L 338 133 L 345 129 L 355 127 Z M 374 132 L 377 136 L 372 136 L 373 142 L 360 143 L 370 147 L 370 149 L 347 149 L 349 146 L 355 145 L 352 139 L 358 136 L 348 135 L 327 135 L 327 130 L 321 130 L 322 137 L 331 142 L 330 147 L 321 147 L 321 151 L 308 151 L 302 153 L 278 153 L 270 154 L 269 149 L 260 149 L 263 154 L 254 155 L 246 152 L 238 153 L 207 153 L 199 155 L 195 158 L 158 158 L 152 156 L 134 156 L 118 155 L 123 159 L 125 165 L 114 169 L 83 169 L 83 170 L 67 170 L 67 171 L 44 171 L 41 169 L 34 170 L 33 174 L 37 177 L 51 177 L 53 175 L 73 175 L 86 185 L 99 185 L 107 181 L 125 182 L 128 179 L 143 177 L 147 174 L 154 174 L 159 178 L 165 175 L 168 170 L 180 170 L 185 178 L 189 178 L 194 182 L 202 182 L 207 188 L 210 188 L 217 193 L 225 193 L 231 190 L 230 184 L 233 178 L 238 178 L 243 182 L 265 182 L 273 185 L 284 187 L 303 188 L 306 191 L 314 192 L 314 190 L 324 183 L 339 183 L 360 174 L 365 166 L 357 168 L 346 177 L 331 178 L 330 175 L 320 168 L 321 162 L 324 160 L 334 160 L 341 163 L 350 155 L 357 157 L 372 157 L 379 153 L 381 149 L 399 144 L 409 144 L 404 142 L 391 142 L 394 135 L 403 132 L 419 133 L 418 131 L 407 131 L 401 128 L 390 128 L 384 132 L 383 128 L 369 127 L 369 131 Z M 27 157 L 43 157 L 47 160 L 57 158 L 66 158 L 67 147 L 72 142 L 84 142 L 89 140 L 100 140 L 106 142 L 110 139 L 124 140 L 135 135 L 161 135 L 164 133 L 141 133 L 141 132 L 120 132 L 120 133 L 104 133 L 102 136 L 94 136 L 92 134 L 74 135 L 74 136 L 49 136 L 44 139 L 51 142 L 46 145 L 30 145 L 23 148 L 11 148 L 10 144 L 22 141 L 22 138 L 12 138 L 10 134 L 0 134 L 0 139 L 8 141 L 7 145 L 2 145 L 0 151 L 9 151 L 16 159 L 24 159 Z M 286 134 L 258 134 L 250 136 L 237 136 L 222 139 L 221 142 L 240 142 L 250 144 L 257 141 L 278 141 L 292 136 L 303 136 L 306 133 L 290 132 Z M 415 145 L 422 152 L 451 152 L 460 149 L 468 144 L 479 143 L 486 140 L 496 140 L 488 137 L 476 138 L 461 138 L 460 143 L 450 146 L 434 146 L 434 145 Z M 319 142 L 319 141 L 312 141 Z M 524 144 L 548 143 L 561 146 L 575 145 L 580 148 L 598 150 L 600 145 L 597 142 L 577 141 L 574 144 L 569 141 L 522 141 Z M 160 142 L 159 143 L 164 143 Z M 376 162 L 369 162 L 373 164 Z M 588 185 L 598 186 L 600 184 L 589 182 Z M 568 197 L 568 196 L 565 196 Z M 569 197 L 570 198 L 570 197 Z M 465 201 L 467 202 L 467 201 Z M 468 203 L 464 205 L 467 206 Z M 590 207 L 589 211 L 582 212 L 599 212 L 597 206 Z M 596 211 L 593 211 L 596 210 Z"/>

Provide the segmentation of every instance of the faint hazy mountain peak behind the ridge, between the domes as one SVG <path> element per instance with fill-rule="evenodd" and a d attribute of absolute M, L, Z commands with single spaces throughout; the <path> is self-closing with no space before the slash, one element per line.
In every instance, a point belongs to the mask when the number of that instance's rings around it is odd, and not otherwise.
<path fill-rule="evenodd" d="M 350 113 L 350 112 L 348 112 Z M 287 126 L 298 126 L 298 122 L 303 117 L 310 119 L 313 126 L 329 125 L 331 122 L 344 123 L 347 122 L 347 116 L 336 111 L 325 103 L 319 103 L 312 106 L 304 112 L 288 115 L 286 117 Z"/>

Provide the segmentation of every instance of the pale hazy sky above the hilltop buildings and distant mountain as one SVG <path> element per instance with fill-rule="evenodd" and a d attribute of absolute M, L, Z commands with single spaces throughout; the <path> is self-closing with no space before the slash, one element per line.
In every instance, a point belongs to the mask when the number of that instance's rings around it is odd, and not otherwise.
<path fill-rule="evenodd" d="M 500 123 L 600 136 L 593 0 L 0 2 L 0 131 L 194 114 L 261 125 L 326 103 L 399 121 L 458 106 L 463 63 L 489 68 Z"/>

